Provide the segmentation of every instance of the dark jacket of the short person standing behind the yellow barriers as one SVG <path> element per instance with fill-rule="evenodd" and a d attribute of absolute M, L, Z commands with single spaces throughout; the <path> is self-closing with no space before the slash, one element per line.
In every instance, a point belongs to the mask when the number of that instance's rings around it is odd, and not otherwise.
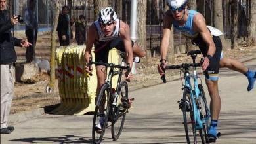
<path fill-rule="evenodd" d="M 83 22 L 75 22 L 75 39 L 78 45 L 85 43 L 85 24 Z"/>

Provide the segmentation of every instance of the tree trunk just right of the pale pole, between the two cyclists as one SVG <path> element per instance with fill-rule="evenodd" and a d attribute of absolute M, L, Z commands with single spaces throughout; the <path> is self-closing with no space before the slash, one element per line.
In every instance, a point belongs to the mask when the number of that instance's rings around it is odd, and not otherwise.
<path fill-rule="evenodd" d="M 146 47 L 146 1 L 139 0 L 137 4 L 137 44 L 147 50 Z M 145 58 L 141 58 L 141 65 L 148 66 L 148 54 L 146 52 Z"/>

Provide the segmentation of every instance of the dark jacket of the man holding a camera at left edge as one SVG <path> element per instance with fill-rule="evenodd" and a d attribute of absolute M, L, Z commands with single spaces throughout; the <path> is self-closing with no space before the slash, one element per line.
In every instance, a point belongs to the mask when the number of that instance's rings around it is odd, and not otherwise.
<path fill-rule="evenodd" d="M 0 11 L 0 64 L 10 64 L 16 62 L 17 55 L 14 46 L 21 46 L 21 40 L 12 37 L 9 12 L 7 10 Z"/>

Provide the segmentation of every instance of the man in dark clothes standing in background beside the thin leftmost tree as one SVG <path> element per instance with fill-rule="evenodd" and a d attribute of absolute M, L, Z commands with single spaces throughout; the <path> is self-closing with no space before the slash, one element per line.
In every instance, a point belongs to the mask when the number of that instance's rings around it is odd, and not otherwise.
<path fill-rule="evenodd" d="M 37 14 L 35 12 L 36 0 L 28 0 L 28 7 L 25 10 L 24 22 L 26 25 L 26 36 L 28 42 L 33 45 L 28 47 L 26 50 L 26 62 L 30 63 L 35 57 L 35 44 L 37 42 Z"/>

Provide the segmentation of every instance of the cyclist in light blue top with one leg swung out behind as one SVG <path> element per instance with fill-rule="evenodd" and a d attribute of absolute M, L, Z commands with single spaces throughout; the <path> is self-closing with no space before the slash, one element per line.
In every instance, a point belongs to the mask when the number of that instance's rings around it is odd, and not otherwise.
<path fill-rule="evenodd" d="M 241 62 L 224 58 L 222 53 L 221 31 L 211 26 L 206 26 L 205 18 L 202 14 L 194 10 L 187 9 L 188 0 L 167 0 L 170 7 L 165 12 L 163 18 L 163 38 L 161 39 L 161 65 L 167 65 L 166 57 L 169 45 L 171 26 L 179 29 L 182 34 L 192 39 L 192 43 L 198 45 L 203 56 L 203 71 L 209 73 L 209 79 L 206 84 L 211 96 L 211 128 L 209 129 L 209 139 L 216 139 L 217 136 L 217 120 L 221 110 L 221 98 L 218 90 L 219 67 L 228 67 L 234 71 L 243 73 L 249 85 L 247 90 L 253 88 L 256 79 L 255 71 L 249 70 Z M 158 65 L 160 75 L 163 75 L 163 69 Z"/>

